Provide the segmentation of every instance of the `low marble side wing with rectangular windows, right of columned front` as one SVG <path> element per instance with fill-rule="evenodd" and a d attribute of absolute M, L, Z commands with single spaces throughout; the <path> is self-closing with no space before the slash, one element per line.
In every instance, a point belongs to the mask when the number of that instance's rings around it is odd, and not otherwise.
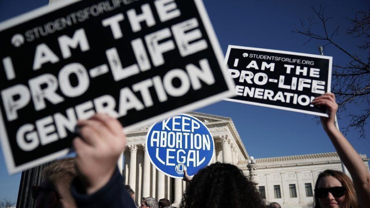
<path fill-rule="evenodd" d="M 360 155 L 369 170 L 369 158 Z M 342 171 L 336 152 L 258 158 L 255 182 L 267 202 L 278 202 L 284 208 L 312 208 L 317 175 L 327 169 Z M 238 167 L 249 175 L 248 161 Z"/>

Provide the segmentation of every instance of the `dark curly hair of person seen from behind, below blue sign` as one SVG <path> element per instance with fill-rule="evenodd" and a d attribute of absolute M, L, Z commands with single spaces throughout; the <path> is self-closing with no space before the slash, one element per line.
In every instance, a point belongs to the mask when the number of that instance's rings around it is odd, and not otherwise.
<path fill-rule="evenodd" d="M 255 185 L 235 165 L 216 162 L 194 176 L 180 208 L 265 208 Z"/>

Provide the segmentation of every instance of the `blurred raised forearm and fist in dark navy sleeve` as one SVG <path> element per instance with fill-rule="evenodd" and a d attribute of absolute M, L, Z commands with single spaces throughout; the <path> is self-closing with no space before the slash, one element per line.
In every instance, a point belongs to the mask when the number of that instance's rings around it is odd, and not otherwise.
<path fill-rule="evenodd" d="M 79 208 L 136 208 L 123 185 L 117 160 L 126 145 L 121 124 L 104 114 L 78 121 L 73 141 L 79 178 L 71 191 Z"/>

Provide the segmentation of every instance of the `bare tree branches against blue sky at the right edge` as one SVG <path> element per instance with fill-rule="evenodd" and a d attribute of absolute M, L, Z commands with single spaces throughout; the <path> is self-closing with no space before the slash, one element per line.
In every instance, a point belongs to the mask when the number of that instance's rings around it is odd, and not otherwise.
<path fill-rule="evenodd" d="M 319 25 L 315 19 L 309 17 L 306 20 L 300 20 L 301 28 L 296 28 L 292 32 L 308 37 L 303 45 L 312 40 L 318 40 L 322 42 L 324 50 L 325 46 L 332 45 L 347 55 L 347 64 L 333 65 L 332 92 L 336 94 L 339 113 L 346 114 L 346 117 L 350 118 L 350 124 L 342 128 L 342 131 L 347 133 L 350 129 L 354 129 L 360 133 L 360 138 L 366 138 L 365 125 L 370 117 L 370 9 L 354 10 L 355 17 L 347 18 L 350 20 L 350 27 L 345 30 L 350 38 L 361 38 L 364 41 L 357 47 L 367 52 L 365 58 L 350 53 L 334 41 L 334 38 L 339 35 L 340 25 L 334 30 L 329 29 L 332 28 L 328 27 L 330 20 L 334 17 L 325 17 L 325 7 L 312 6 L 312 10 L 321 28 L 316 27 Z M 347 109 L 349 104 L 361 106 L 364 109 L 360 109 L 362 113 L 350 113 Z"/>

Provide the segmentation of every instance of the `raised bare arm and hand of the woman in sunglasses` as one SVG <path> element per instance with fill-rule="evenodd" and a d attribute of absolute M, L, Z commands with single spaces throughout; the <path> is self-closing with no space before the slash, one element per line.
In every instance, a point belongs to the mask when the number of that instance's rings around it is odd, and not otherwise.
<path fill-rule="evenodd" d="M 338 109 L 334 94 L 326 93 L 314 99 L 312 103 L 314 105 L 325 105 L 327 107 L 329 117 L 321 117 L 321 123 L 335 149 L 337 150 L 340 159 L 342 160 L 343 164 L 346 165 L 351 174 L 360 207 L 368 207 L 370 204 L 369 170 L 364 165 L 364 162 L 359 154 L 357 154 L 356 150 L 354 150 L 352 145 L 347 141 L 347 139 L 334 124 L 335 114 Z"/>

